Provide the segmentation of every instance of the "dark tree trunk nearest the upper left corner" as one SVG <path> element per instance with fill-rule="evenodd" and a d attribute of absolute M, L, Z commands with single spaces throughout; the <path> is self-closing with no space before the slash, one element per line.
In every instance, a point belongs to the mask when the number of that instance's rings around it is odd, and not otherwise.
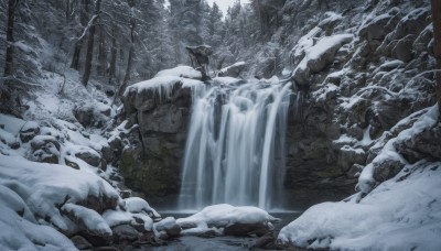
<path fill-rule="evenodd" d="M 13 29 L 14 29 L 14 19 L 15 19 L 15 7 L 18 4 L 18 0 L 9 0 L 8 1 L 8 23 L 7 23 L 7 55 L 4 62 L 4 77 L 9 77 L 12 75 L 12 63 L 13 63 Z"/>

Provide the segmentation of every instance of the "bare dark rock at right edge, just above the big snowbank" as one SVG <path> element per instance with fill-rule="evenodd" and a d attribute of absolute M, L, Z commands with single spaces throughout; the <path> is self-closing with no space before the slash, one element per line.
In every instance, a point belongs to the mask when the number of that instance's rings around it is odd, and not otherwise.
<path fill-rule="evenodd" d="M 410 163 L 420 160 L 441 160 L 441 124 L 423 130 L 410 139 L 397 141 L 394 146 Z"/>

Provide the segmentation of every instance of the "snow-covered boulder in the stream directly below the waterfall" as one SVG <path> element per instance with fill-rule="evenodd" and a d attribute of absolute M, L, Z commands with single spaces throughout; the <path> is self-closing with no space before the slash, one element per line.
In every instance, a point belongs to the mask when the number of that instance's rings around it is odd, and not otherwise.
<path fill-rule="evenodd" d="M 215 234 L 247 236 L 259 234 L 273 230 L 271 222 L 278 218 L 257 207 L 234 207 L 220 204 L 205 207 L 202 211 L 178 219 L 183 229 L 182 234 Z"/>

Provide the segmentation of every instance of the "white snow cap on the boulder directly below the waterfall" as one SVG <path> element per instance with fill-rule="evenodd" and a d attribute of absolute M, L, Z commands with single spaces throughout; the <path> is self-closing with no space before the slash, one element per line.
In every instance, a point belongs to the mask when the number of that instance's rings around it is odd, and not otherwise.
<path fill-rule="evenodd" d="M 176 223 L 182 228 L 187 228 L 182 231 L 183 234 L 201 233 L 208 230 L 222 233 L 222 229 L 235 223 L 265 223 L 270 225 L 279 219 L 270 216 L 263 209 L 241 206 L 234 207 L 228 204 L 219 204 L 205 207 L 200 212 L 196 212 L 186 218 L 180 218 Z M 214 226 L 214 227 L 211 227 Z"/>

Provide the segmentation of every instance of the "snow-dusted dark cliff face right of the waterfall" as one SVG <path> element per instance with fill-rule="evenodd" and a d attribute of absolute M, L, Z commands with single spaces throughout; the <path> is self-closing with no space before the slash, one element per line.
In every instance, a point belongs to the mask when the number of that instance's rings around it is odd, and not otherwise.
<path fill-rule="evenodd" d="M 370 1 L 306 23 L 311 30 L 291 52 L 299 92 L 286 176 L 289 198 L 300 205 L 352 194 L 381 135 L 435 102 L 427 1 Z M 352 39 L 336 40 L 344 35 Z M 400 167 L 387 170 L 383 181 Z"/>

